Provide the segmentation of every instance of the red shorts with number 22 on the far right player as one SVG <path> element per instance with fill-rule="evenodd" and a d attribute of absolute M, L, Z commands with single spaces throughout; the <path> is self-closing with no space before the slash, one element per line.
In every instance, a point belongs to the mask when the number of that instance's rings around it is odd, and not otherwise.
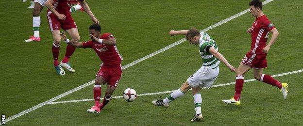
<path fill-rule="evenodd" d="M 244 56 L 242 63 L 244 65 L 249 65 L 251 68 L 254 68 L 254 69 L 263 69 L 263 68 L 267 67 L 266 56 L 267 56 L 267 53 L 253 54 L 251 52 L 248 52 Z"/>

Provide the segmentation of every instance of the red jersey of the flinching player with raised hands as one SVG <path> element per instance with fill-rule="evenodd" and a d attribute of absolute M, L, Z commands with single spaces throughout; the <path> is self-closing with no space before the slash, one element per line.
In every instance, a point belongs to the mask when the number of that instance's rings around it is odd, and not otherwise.
<path fill-rule="evenodd" d="M 101 35 L 100 39 L 109 39 L 112 37 L 114 36 L 111 33 L 104 33 Z M 100 44 L 98 42 L 86 41 L 83 42 L 83 47 L 93 48 L 104 66 L 120 65 L 123 60 L 116 46 L 106 46 L 105 44 Z"/>

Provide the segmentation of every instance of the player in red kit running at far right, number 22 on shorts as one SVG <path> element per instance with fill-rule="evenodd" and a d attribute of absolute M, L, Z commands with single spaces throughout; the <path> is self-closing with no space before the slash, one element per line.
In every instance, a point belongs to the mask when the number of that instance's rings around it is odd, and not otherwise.
<path fill-rule="evenodd" d="M 273 79 L 270 75 L 263 74 L 263 69 L 267 67 L 266 56 L 270 46 L 276 41 L 279 32 L 270 23 L 267 16 L 262 12 L 262 1 L 253 0 L 249 3 L 250 13 L 256 17 L 251 28 L 247 32 L 252 34 L 251 50 L 245 55 L 242 62 L 236 71 L 236 86 L 235 95 L 231 99 L 222 100 L 224 103 L 232 105 L 240 105 L 240 94 L 244 84 L 244 74 L 253 68 L 254 79 L 276 86 L 283 94 L 284 99 L 287 97 L 287 83 L 281 83 Z M 269 43 L 266 45 L 269 37 L 269 32 L 272 33 Z"/>

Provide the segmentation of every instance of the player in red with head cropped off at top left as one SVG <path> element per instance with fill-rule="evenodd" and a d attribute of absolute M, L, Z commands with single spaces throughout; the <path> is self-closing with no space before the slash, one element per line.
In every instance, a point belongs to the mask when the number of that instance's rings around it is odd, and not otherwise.
<path fill-rule="evenodd" d="M 74 53 L 75 47 L 67 45 L 64 59 L 58 62 L 58 55 L 60 50 L 60 29 L 67 31 L 72 40 L 78 41 L 80 39 L 79 32 L 76 26 L 76 22 L 70 15 L 70 8 L 73 4 L 80 3 L 84 11 L 96 24 L 99 24 L 99 20 L 90 11 L 85 0 L 47 0 L 45 6 L 49 9 L 47 11 L 48 21 L 50 25 L 50 31 L 52 33 L 53 44 L 52 44 L 52 55 L 54 59 L 55 70 L 59 75 L 65 75 L 64 70 L 61 66 L 65 67 L 70 72 L 75 72 L 70 67 L 69 58 Z"/>

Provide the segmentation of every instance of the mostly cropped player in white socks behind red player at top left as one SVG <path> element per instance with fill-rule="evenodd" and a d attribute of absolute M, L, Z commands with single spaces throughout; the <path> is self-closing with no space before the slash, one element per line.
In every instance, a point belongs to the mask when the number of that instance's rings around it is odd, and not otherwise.
<path fill-rule="evenodd" d="M 25 1 L 26 0 L 23 0 L 23 2 L 25 2 Z M 32 0 L 31 1 L 32 5 L 30 7 L 34 8 L 34 10 L 33 10 L 34 35 L 30 36 L 30 38 L 25 40 L 24 42 L 41 41 L 40 34 L 39 34 L 40 23 L 41 23 L 40 12 L 45 7 L 45 4 L 44 4 L 45 2 L 46 2 L 46 0 Z M 77 11 L 77 10 L 82 10 L 81 5 L 77 4 L 77 5 L 72 6 L 69 9 L 69 12 L 74 12 L 74 11 Z"/>

